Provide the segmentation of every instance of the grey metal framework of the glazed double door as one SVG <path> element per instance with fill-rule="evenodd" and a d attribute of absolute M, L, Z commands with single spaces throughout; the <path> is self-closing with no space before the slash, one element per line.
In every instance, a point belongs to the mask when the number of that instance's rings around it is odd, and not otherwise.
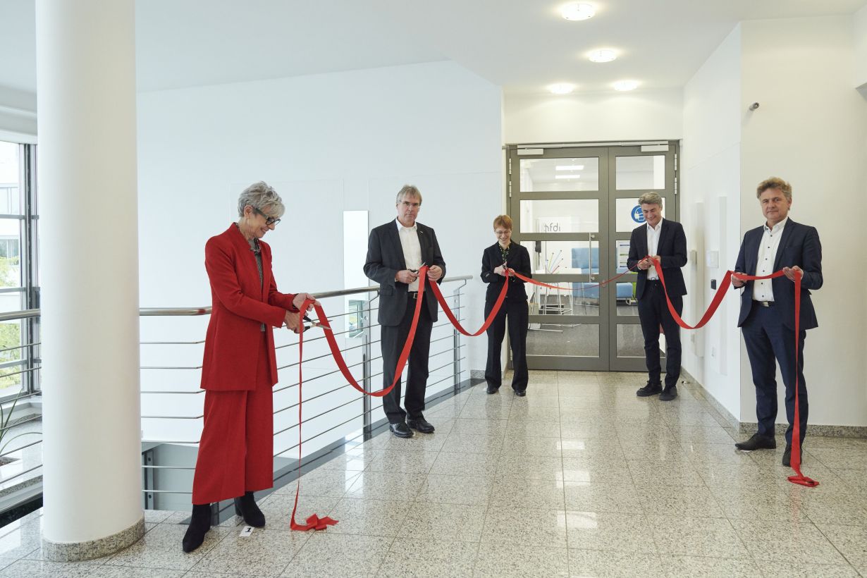
<path fill-rule="evenodd" d="M 668 146 L 668 151 L 659 150 Z M 642 147 L 650 150 L 642 151 Z M 677 196 L 678 143 L 672 141 L 599 142 L 599 143 L 542 143 L 506 145 L 507 207 L 512 216 L 512 237 L 519 243 L 546 241 L 585 241 L 599 246 L 598 274 L 536 275 L 544 283 L 593 283 L 616 274 L 616 241 L 629 240 L 631 231 L 616 231 L 616 200 L 637 198 L 643 190 L 616 189 L 617 156 L 653 156 L 663 154 L 665 160 L 665 188 L 655 189 L 665 199 L 666 218 L 678 219 Z M 527 152 L 531 154 L 522 154 Z M 523 192 L 520 188 L 520 159 L 591 158 L 599 159 L 599 186 L 596 191 L 576 192 Z M 521 231 L 521 200 L 597 199 L 599 229 L 595 233 L 525 233 Z M 592 251 L 590 251 L 592 254 Z M 635 273 L 623 276 L 621 283 L 633 283 Z M 639 324 L 637 315 L 617 315 L 616 283 L 600 288 L 598 315 L 557 315 L 561 324 L 595 325 L 599 335 L 596 357 L 527 355 L 531 369 L 583 370 L 583 371 L 645 371 L 643 357 L 617 357 L 617 325 Z M 551 315 L 531 315 L 530 323 L 551 324 Z M 511 349 L 507 348 L 511 357 Z M 511 359 L 510 359 L 511 362 Z"/>

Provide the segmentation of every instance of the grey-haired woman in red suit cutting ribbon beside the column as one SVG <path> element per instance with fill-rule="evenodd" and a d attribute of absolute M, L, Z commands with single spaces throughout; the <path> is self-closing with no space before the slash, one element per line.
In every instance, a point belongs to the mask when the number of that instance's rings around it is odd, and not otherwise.
<path fill-rule="evenodd" d="M 303 330 L 298 308 L 307 293 L 280 293 L 271 275 L 271 247 L 259 239 L 280 222 L 285 207 L 264 182 L 238 198 L 238 223 L 205 244 L 212 312 L 205 336 L 202 383 L 205 426 L 192 480 L 192 519 L 185 552 L 211 529 L 211 503 L 235 499 L 235 513 L 261 528 L 253 492 L 273 486 L 274 414 L 271 387 L 277 360 L 271 328 Z"/>

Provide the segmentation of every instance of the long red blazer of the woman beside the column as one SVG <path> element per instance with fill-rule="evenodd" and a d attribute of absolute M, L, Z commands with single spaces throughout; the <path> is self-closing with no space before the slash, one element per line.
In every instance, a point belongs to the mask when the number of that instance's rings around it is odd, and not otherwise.
<path fill-rule="evenodd" d="M 205 244 L 205 269 L 211 280 L 212 311 L 205 336 L 202 389 L 212 391 L 256 388 L 258 355 L 262 354 L 262 323 L 266 326 L 271 386 L 277 383 L 277 358 L 271 327 L 282 327 L 295 295 L 277 292 L 271 275 L 271 247 L 262 249 L 262 284 L 256 256 L 233 223 Z"/>

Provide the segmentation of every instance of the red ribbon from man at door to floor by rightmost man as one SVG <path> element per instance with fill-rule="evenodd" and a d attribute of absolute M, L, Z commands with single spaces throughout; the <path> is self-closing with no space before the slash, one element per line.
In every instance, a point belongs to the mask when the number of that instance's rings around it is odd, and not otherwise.
<path fill-rule="evenodd" d="M 714 315 L 716 309 L 720 307 L 720 302 L 722 302 L 723 297 L 726 296 L 727 289 L 729 285 L 732 283 L 732 276 L 734 275 L 734 271 L 728 270 L 726 271 L 726 276 L 723 277 L 722 283 L 720 283 L 720 289 L 716 290 L 716 295 L 714 295 L 714 300 L 710 303 L 710 306 L 705 311 L 705 314 L 701 316 L 701 321 L 699 321 L 696 325 L 690 326 L 683 319 L 681 319 L 681 315 L 677 314 L 677 310 L 675 306 L 672 304 L 671 299 L 668 298 L 668 289 L 665 288 L 665 275 L 662 273 L 662 263 L 659 262 L 659 259 L 655 259 L 653 257 L 645 257 L 649 258 L 651 262 L 653 262 L 656 272 L 659 273 L 659 280 L 662 283 L 662 289 L 665 292 L 665 301 L 668 303 L 668 311 L 671 313 L 671 316 L 674 317 L 675 321 L 681 328 L 685 329 L 697 329 L 703 327 L 707 321 Z M 764 276 L 756 276 L 756 275 L 744 275 L 743 273 L 738 273 L 738 279 L 740 281 L 761 281 L 763 279 L 773 279 L 775 277 L 786 275 L 783 270 L 774 271 L 771 275 Z M 818 482 L 811 477 L 806 477 L 803 473 L 801 473 L 801 422 L 800 422 L 800 404 L 799 404 L 799 371 L 798 371 L 798 357 L 799 357 L 799 345 L 800 345 L 800 318 L 801 318 L 801 273 L 799 270 L 794 270 L 794 283 L 795 283 L 795 418 L 794 423 L 792 424 L 792 458 L 790 464 L 792 465 L 792 470 L 795 471 L 794 476 L 789 476 L 788 480 L 792 482 L 792 484 L 800 484 L 805 485 L 808 488 L 815 488 L 818 486 Z"/>

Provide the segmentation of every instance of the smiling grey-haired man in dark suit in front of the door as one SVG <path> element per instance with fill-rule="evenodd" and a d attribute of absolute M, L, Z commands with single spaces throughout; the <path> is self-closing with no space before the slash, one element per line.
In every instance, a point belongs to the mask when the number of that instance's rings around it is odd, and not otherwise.
<path fill-rule="evenodd" d="M 683 283 L 681 267 L 687 264 L 687 236 L 683 226 L 676 221 L 662 218 L 662 197 L 655 192 L 645 192 L 638 198 L 645 224 L 632 231 L 629 237 L 627 266 L 638 266 L 636 298 L 638 318 L 644 334 L 644 360 L 648 366 L 648 383 L 636 392 L 639 397 L 659 393 L 659 399 L 670 401 L 677 397 L 677 380 L 681 377 L 681 328 L 668 311 L 665 290 L 659 274 L 650 259 L 655 257 L 662 264 L 668 298 L 678 315 L 683 312 L 683 295 L 687 286 Z M 665 332 L 665 387 L 662 387 L 662 366 L 659 360 L 659 328 Z"/>

